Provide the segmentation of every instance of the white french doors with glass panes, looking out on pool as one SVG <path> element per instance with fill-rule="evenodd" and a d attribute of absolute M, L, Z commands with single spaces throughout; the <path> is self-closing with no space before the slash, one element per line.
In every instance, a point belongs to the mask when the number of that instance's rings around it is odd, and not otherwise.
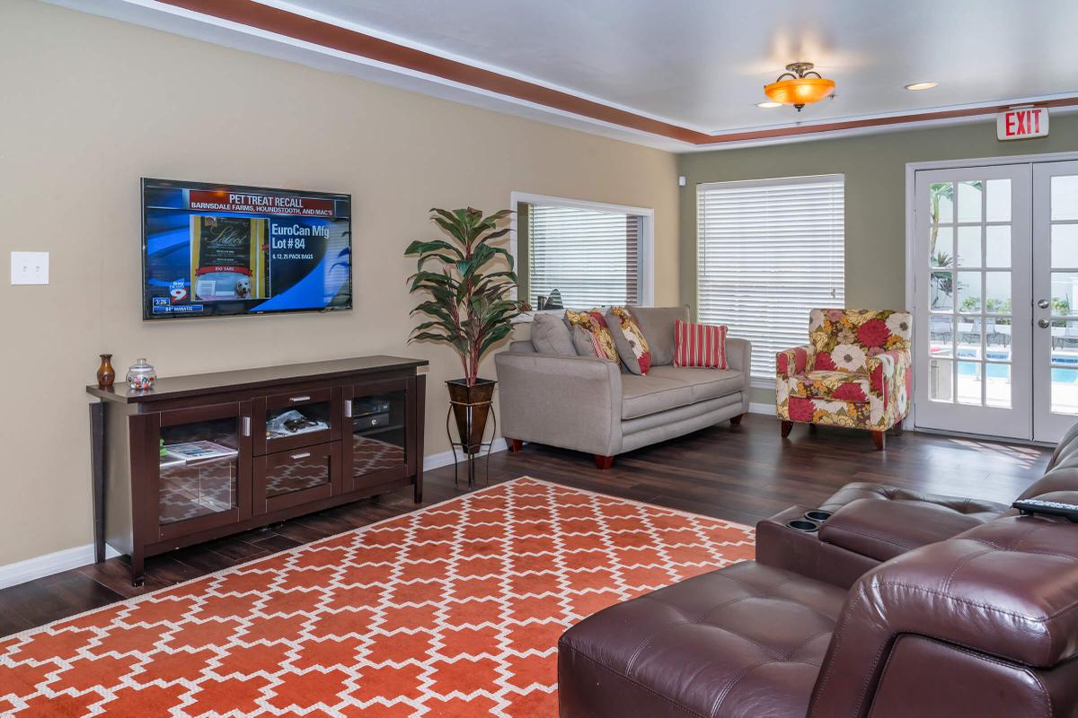
<path fill-rule="evenodd" d="M 1078 420 L 1078 163 L 914 182 L 914 421 L 1055 441 Z"/>

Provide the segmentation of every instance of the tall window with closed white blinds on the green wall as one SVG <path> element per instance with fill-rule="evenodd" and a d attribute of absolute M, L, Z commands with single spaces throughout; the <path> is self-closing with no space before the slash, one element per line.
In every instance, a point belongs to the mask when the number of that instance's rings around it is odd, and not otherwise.
<path fill-rule="evenodd" d="M 700 320 L 751 341 L 752 383 L 772 386 L 808 311 L 845 305 L 843 177 L 701 184 L 696 225 Z"/>

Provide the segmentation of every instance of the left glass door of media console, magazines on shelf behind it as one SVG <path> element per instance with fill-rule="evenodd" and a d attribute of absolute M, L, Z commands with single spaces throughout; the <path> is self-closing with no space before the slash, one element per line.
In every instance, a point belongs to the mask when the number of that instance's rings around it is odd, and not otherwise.
<path fill-rule="evenodd" d="M 226 404 L 161 414 L 157 437 L 160 537 L 250 516 L 250 416 Z"/>

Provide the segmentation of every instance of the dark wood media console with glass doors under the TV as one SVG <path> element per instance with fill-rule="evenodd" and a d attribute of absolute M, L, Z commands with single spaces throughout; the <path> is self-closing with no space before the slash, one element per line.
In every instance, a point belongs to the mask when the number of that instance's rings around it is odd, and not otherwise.
<path fill-rule="evenodd" d="M 423 360 L 363 356 L 86 386 L 94 545 L 147 557 L 409 484 L 423 501 Z"/>

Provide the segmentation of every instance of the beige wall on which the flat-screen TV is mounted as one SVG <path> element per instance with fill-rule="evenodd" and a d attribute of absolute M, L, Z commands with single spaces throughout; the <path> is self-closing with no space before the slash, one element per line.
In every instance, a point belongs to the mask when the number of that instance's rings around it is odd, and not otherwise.
<path fill-rule="evenodd" d="M 0 271 L 49 251 L 47 286 L 0 282 L 0 564 L 91 540 L 86 395 L 97 354 L 182 375 L 359 354 L 431 361 L 427 453 L 447 448 L 445 347 L 406 346 L 407 241 L 430 207 L 511 191 L 655 210 L 657 301 L 678 299 L 674 155 L 31 0 L 0 5 Z M 351 193 L 351 312 L 146 324 L 139 178 Z M 485 366 L 493 376 L 493 363 Z"/>

